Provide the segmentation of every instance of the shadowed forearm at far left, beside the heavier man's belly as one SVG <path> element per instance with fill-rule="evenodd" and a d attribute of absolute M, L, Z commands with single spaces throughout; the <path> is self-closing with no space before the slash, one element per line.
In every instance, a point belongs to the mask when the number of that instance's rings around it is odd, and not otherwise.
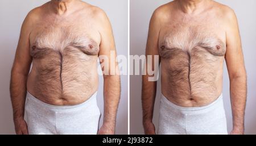
<path fill-rule="evenodd" d="M 24 104 L 27 91 L 27 76 L 21 73 L 11 73 L 10 95 L 13 105 L 14 120 L 24 118 Z"/>

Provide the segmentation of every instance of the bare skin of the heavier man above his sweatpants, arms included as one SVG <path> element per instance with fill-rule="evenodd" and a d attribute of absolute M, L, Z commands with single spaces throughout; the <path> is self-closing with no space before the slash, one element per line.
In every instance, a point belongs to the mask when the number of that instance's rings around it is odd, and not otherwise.
<path fill-rule="evenodd" d="M 51 105 L 85 102 L 98 89 L 98 56 L 110 59 L 111 51 L 115 53 L 112 27 L 98 7 L 54 0 L 32 10 L 23 22 L 11 72 L 16 133 L 27 134 L 26 91 Z M 109 65 L 104 68 L 111 72 Z M 114 134 L 120 95 L 117 64 L 114 69 L 115 74 L 104 74 L 104 124 L 98 134 Z"/>

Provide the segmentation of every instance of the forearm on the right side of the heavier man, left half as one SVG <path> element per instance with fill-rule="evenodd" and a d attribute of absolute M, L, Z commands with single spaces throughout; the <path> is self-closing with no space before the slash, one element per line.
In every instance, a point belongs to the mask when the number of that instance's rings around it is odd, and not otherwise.
<path fill-rule="evenodd" d="M 120 91 L 120 77 L 118 75 L 104 77 L 104 124 L 108 124 L 112 128 L 115 127 Z"/>

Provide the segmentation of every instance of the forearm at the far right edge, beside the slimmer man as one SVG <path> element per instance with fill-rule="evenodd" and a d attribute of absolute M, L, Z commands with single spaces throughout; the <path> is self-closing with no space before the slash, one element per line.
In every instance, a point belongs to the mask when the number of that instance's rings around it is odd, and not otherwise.
<path fill-rule="evenodd" d="M 246 105 L 246 76 L 230 79 L 233 130 L 243 131 Z"/>

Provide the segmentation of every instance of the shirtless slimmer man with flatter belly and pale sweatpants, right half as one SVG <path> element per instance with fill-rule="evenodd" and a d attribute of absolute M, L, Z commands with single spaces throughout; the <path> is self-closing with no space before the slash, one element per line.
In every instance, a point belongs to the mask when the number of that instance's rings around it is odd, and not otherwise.
<path fill-rule="evenodd" d="M 146 55 L 159 55 L 162 64 L 158 134 L 228 134 L 221 94 L 224 59 L 230 79 L 231 134 L 243 134 L 246 72 L 233 10 L 210 0 L 160 6 L 150 21 Z M 156 82 L 148 77 L 143 76 L 143 126 L 146 134 L 155 134 Z"/>

